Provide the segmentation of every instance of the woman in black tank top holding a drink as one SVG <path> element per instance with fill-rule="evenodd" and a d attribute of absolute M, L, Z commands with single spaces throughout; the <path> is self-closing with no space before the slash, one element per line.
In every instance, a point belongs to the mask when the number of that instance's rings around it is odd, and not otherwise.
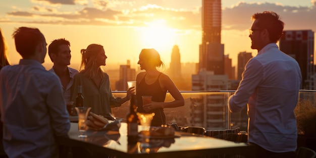
<path fill-rule="evenodd" d="M 155 113 L 151 126 L 161 126 L 166 124 L 164 108 L 176 108 L 184 106 L 184 99 L 180 91 L 166 74 L 159 72 L 156 67 L 164 66 L 159 53 L 155 49 L 142 49 L 138 63 L 140 72 L 136 76 L 136 96 L 137 112 Z M 170 102 L 165 102 L 167 91 L 175 98 Z M 151 103 L 143 105 L 143 95 L 150 95 Z"/>

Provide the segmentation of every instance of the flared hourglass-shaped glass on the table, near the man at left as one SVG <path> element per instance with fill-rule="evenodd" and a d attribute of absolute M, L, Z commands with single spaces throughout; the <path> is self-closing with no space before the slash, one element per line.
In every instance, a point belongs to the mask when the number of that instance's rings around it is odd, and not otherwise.
<path fill-rule="evenodd" d="M 75 107 L 77 114 L 78 114 L 78 129 L 80 132 L 80 135 L 78 135 L 79 138 L 86 138 L 87 135 L 85 132 L 87 131 L 87 118 L 88 114 L 91 110 L 90 107 Z"/>

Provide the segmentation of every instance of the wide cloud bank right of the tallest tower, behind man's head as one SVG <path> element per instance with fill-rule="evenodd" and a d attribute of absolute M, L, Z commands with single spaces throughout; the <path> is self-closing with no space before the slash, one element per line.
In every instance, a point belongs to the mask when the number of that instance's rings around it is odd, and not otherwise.
<path fill-rule="evenodd" d="M 225 8 L 222 11 L 222 27 L 223 29 L 248 29 L 252 23 L 250 17 L 254 13 L 263 11 L 273 11 L 279 14 L 285 23 L 285 29 L 316 29 L 316 21 L 312 20 L 316 15 L 315 6 L 310 8 L 289 7 L 272 3 L 239 3 L 233 8 Z"/>

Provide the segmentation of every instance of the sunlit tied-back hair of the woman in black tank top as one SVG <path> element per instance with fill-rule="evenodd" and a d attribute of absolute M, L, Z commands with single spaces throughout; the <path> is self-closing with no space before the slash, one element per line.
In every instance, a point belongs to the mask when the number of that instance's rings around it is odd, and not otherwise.
<path fill-rule="evenodd" d="M 142 49 L 140 55 L 144 57 L 145 60 L 150 61 L 155 67 L 165 67 L 164 63 L 161 61 L 159 52 L 154 48 Z"/>

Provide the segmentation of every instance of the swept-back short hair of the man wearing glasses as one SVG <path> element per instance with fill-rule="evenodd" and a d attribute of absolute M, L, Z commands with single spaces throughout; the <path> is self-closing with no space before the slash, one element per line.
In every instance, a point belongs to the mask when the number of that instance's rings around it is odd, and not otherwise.
<path fill-rule="evenodd" d="M 261 29 L 267 29 L 269 38 L 272 42 L 277 43 L 282 36 L 284 22 L 280 20 L 280 16 L 275 12 L 265 11 L 262 13 L 255 13 L 251 20 L 257 20 L 257 24 Z"/>

